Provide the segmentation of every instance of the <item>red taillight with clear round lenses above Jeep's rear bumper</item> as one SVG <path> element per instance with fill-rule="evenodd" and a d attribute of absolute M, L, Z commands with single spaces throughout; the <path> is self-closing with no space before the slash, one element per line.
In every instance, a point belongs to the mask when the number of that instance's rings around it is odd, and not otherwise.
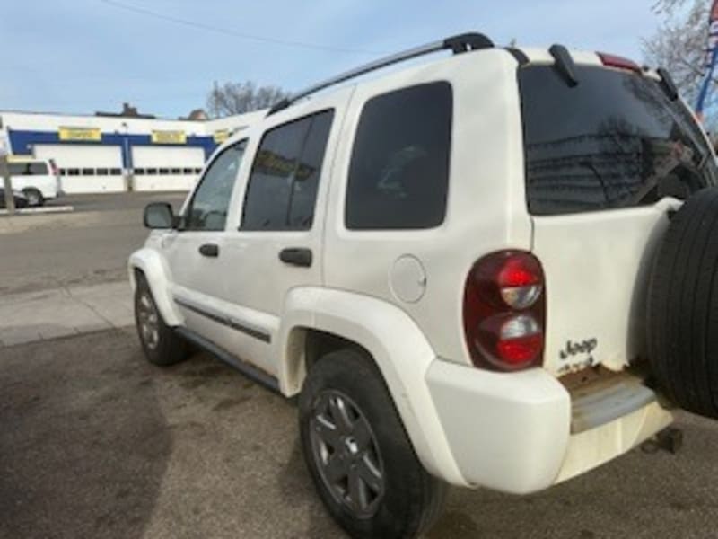
<path fill-rule="evenodd" d="M 513 371 L 541 363 L 546 295 L 529 252 L 502 251 L 474 264 L 464 290 L 464 332 L 477 367 Z"/>

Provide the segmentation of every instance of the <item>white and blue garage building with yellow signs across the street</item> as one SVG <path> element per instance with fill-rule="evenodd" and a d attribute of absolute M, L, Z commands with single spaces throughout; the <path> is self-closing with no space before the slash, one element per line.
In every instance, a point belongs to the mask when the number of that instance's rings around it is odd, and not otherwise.
<path fill-rule="evenodd" d="M 0 134 L 12 155 L 53 159 L 67 193 L 188 190 L 216 146 L 265 113 L 156 119 L 127 104 L 93 116 L 0 111 Z"/>

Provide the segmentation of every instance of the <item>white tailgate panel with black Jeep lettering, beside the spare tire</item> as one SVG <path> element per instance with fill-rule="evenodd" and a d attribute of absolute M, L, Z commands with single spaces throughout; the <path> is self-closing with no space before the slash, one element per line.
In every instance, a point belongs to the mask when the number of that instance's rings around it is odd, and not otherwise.
<path fill-rule="evenodd" d="M 669 209 L 655 206 L 534 217 L 533 252 L 546 275 L 544 367 L 556 375 L 603 365 L 620 371 L 645 357 L 648 278 Z M 590 351 L 566 353 L 584 342 Z"/>

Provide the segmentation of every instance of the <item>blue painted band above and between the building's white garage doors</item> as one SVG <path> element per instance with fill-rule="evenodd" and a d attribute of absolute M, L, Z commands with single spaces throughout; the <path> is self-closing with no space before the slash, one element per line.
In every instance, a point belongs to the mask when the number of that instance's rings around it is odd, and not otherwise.
<path fill-rule="evenodd" d="M 119 146 L 122 150 L 122 166 L 132 168 L 132 147 L 133 146 L 170 146 L 170 147 L 200 147 L 205 152 L 205 160 L 212 155 L 218 146 L 214 137 L 188 136 L 187 143 L 178 144 L 153 144 L 150 135 L 133 135 L 122 133 L 102 133 L 98 142 L 60 140 L 57 131 L 31 131 L 7 129 L 10 138 L 10 147 L 13 154 L 27 155 L 32 153 L 32 146 L 36 144 L 62 144 L 74 146 Z"/>

